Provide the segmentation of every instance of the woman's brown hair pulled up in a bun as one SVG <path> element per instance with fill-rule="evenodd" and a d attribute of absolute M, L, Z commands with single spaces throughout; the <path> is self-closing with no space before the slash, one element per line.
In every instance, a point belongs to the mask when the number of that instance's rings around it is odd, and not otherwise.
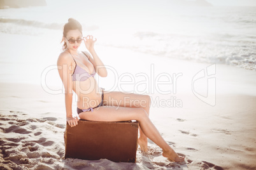
<path fill-rule="evenodd" d="M 69 18 L 68 23 L 65 23 L 65 25 L 63 27 L 63 37 L 67 36 L 69 30 L 76 30 L 76 29 L 79 30 L 82 34 L 82 25 L 74 18 Z M 62 41 L 63 41 L 63 39 L 62 39 Z M 62 50 L 66 49 L 66 48 L 67 48 L 67 43 L 64 42 L 64 44 L 62 46 Z"/>

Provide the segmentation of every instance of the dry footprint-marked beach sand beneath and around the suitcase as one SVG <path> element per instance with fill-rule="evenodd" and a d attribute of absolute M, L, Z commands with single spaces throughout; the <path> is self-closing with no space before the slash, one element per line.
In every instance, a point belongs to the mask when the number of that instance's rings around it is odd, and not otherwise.
<path fill-rule="evenodd" d="M 255 169 L 255 96 L 221 95 L 215 107 L 183 100 L 183 108 L 151 108 L 164 139 L 185 155 L 169 162 L 149 141 L 136 164 L 64 159 L 66 127 L 61 95 L 40 86 L 1 83 L 1 169 Z M 183 98 L 184 97 L 181 97 Z M 190 104 L 189 104 L 190 103 Z M 197 103 L 197 104 L 196 104 Z M 171 114 L 174 112 L 175 114 Z"/>

